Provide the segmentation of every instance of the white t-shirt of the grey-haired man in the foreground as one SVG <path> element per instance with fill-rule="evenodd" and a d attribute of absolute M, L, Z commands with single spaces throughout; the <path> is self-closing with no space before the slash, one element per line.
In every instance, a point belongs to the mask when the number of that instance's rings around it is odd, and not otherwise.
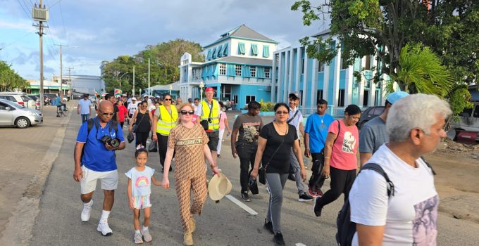
<path fill-rule="evenodd" d="M 436 245 L 439 196 L 431 169 L 416 160 L 406 164 L 385 144 L 368 162 L 379 164 L 394 184 L 387 198 L 385 178 L 363 170 L 349 192 L 351 221 L 366 226 L 385 226 L 382 245 Z M 358 245 L 357 233 L 352 245 Z"/>

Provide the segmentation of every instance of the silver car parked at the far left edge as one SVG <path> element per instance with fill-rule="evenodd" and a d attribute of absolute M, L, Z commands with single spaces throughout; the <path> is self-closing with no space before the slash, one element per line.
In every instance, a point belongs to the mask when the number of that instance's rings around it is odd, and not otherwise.
<path fill-rule="evenodd" d="M 0 99 L 0 126 L 25 128 L 42 123 L 42 112 L 32 108 L 23 108 L 11 101 Z"/>

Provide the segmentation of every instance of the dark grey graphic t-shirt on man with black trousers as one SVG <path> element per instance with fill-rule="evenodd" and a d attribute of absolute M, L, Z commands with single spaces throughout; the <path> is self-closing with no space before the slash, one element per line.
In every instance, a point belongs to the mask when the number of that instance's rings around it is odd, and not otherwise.
<path fill-rule="evenodd" d="M 248 114 L 238 115 L 233 124 L 233 129 L 239 129 L 238 141 L 258 144 L 259 131 L 263 128 L 263 120 L 259 115 L 251 116 Z"/>

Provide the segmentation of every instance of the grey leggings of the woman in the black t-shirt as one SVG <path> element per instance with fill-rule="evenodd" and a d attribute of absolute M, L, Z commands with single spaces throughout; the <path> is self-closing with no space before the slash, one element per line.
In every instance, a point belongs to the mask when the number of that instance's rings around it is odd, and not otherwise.
<path fill-rule="evenodd" d="M 270 190 L 266 221 L 271 221 L 273 231 L 281 232 L 282 189 L 285 188 L 288 174 L 266 173 L 266 186 Z"/>

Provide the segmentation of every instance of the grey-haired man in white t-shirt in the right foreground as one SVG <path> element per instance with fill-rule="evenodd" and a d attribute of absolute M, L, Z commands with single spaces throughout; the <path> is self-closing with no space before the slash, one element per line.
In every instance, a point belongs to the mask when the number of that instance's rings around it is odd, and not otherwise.
<path fill-rule="evenodd" d="M 439 198 L 433 170 L 421 159 L 446 137 L 452 111 L 437 96 L 413 94 L 396 101 L 387 115 L 389 142 L 373 154 L 394 184 L 388 197 L 385 178 L 362 170 L 349 193 L 352 245 L 436 245 Z"/>

